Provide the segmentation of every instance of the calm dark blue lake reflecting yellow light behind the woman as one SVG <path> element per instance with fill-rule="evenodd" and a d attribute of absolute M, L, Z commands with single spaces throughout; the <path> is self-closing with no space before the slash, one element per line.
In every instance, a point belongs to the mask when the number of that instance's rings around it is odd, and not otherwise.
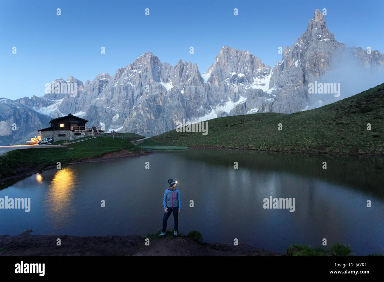
<path fill-rule="evenodd" d="M 189 149 L 62 165 L 0 190 L 0 198 L 31 199 L 29 212 L 0 209 L 0 234 L 156 233 L 167 180 L 174 178 L 179 231 L 198 230 L 203 242 L 237 238 L 285 252 L 294 242 L 321 246 L 326 238 L 328 246 L 343 242 L 356 255 L 378 253 L 384 251 L 383 164 L 374 156 Z M 270 196 L 295 199 L 294 211 L 265 208 Z M 167 229 L 173 227 L 171 215 Z"/>

